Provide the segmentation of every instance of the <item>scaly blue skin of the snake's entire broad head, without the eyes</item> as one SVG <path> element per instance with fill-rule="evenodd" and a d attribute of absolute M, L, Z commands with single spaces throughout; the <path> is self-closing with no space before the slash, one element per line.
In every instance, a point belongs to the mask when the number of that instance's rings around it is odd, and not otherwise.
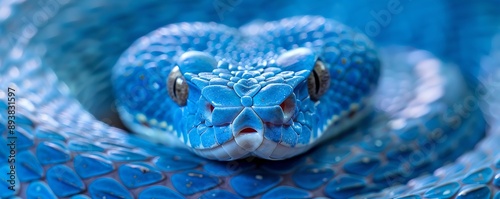
<path fill-rule="evenodd" d="M 316 60 L 331 81 L 313 101 L 308 77 Z M 163 83 L 176 66 L 189 87 L 185 106 Z M 174 132 L 210 159 L 285 159 L 367 112 L 380 63 L 365 35 L 322 17 L 294 17 L 239 30 L 168 25 L 135 42 L 113 70 L 118 110 L 135 132 L 175 142 L 162 137 Z M 248 128 L 256 132 L 240 134 Z"/>

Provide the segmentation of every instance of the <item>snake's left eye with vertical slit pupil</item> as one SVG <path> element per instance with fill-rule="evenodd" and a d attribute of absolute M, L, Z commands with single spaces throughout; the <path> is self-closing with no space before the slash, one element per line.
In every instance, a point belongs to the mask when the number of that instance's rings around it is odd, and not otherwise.
<path fill-rule="evenodd" d="M 188 85 L 184 76 L 182 76 L 179 67 L 174 67 L 167 79 L 168 95 L 179 106 L 187 104 Z"/>

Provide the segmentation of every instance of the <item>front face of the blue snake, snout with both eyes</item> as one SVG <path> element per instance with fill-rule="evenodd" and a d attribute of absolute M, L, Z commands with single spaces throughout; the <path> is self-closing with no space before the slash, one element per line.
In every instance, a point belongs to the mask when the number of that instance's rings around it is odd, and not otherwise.
<path fill-rule="evenodd" d="M 179 121 L 179 138 L 196 153 L 222 160 L 283 159 L 318 138 L 314 103 L 328 90 L 329 73 L 308 48 L 249 65 L 189 51 L 169 82 L 186 118 Z"/>

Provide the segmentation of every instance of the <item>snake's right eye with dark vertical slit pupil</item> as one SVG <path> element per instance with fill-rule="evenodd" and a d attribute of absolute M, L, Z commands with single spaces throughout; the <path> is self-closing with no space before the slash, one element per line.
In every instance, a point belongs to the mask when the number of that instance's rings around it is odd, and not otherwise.
<path fill-rule="evenodd" d="M 307 78 L 307 87 L 313 101 L 318 101 L 330 87 L 330 73 L 321 60 L 317 60 L 314 64 L 314 69 Z"/>

